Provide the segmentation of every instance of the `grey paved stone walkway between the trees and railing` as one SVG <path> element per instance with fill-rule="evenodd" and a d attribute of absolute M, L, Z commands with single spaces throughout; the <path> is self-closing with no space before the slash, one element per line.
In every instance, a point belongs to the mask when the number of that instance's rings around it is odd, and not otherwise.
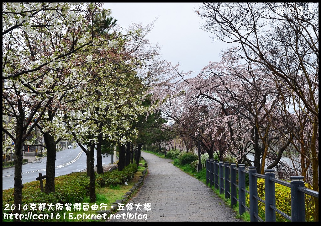
<path fill-rule="evenodd" d="M 173 166 L 170 159 L 146 152 L 142 157 L 147 161 L 148 173 L 137 195 L 128 201 L 134 210 L 119 211 L 116 214 L 124 213 L 125 219 L 108 221 L 242 221 L 211 188 Z M 151 203 L 151 210 L 135 211 L 138 203 Z M 143 206 L 140 208 L 143 210 Z M 130 214 L 126 219 L 127 212 L 133 214 L 132 219 Z M 142 219 L 144 214 L 147 220 Z"/>

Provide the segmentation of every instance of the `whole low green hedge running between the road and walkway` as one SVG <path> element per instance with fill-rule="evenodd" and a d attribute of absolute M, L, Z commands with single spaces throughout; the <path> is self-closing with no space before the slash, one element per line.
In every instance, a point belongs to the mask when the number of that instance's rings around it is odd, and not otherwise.
<path fill-rule="evenodd" d="M 126 180 L 130 180 L 137 172 L 138 168 L 135 164 L 126 166 L 122 171 L 114 170 L 112 172 L 106 172 L 102 176 L 96 176 L 96 182 L 100 183 L 100 178 L 103 178 L 105 185 L 118 185 L 125 183 Z M 46 180 L 43 181 L 44 185 Z M 89 177 L 86 172 L 76 172 L 64 176 L 58 176 L 55 178 L 55 193 L 43 193 L 40 192 L 39 181 L 32 181 L 23 184 L 22 189 L 22 206 L 26 205 L 30 207 L 30 203 L 36 203 L 37 207 L 32 210 L 33 214 L 56 214 L 56 206 L 54 210 L 39 210 L 39 203 L 82 203 L 83 199 L 89 195 Z M 11 211 L 5 211 L 5 204 L 10 206 L 13 204 L 13 188 L 2 191 L 2 212 L 10 213 Z M 9 208 L 10 209 L 10 208 Z M 65 206 L 63 208 L 65 210 Z M 30 212 L 30 208 L 22 210 L 22 214 Z"/>

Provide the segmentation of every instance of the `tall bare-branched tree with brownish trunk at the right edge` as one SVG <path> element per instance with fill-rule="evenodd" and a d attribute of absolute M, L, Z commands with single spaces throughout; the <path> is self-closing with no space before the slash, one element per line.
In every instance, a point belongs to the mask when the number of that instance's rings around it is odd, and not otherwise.
<path fill-rule="evenodd" d="M 197 14 L 213 40 L 234 45 L 237 59 L 255 62 L 292 92 L 313 122 L 313 190 L 318 189 L 318 3 L 203 3 Z M 316 200 L 317 202 L 317 200 Z M 316 205 L 318 210 L 318 205 Z M 318 211 L 314 216 L 318 220 Z"/>

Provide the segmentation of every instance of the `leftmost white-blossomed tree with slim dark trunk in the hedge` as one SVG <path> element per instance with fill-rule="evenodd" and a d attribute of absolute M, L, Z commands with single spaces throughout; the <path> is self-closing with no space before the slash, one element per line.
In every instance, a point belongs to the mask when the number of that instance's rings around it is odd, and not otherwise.
<path fill-rule="evenodd" d="M 16 121 L 14 132 L 7 127 L 10 123 L 3 123 L 3 131 L 15 143 L 16 206 L 22 202 L 21 146 L 36 126 L 31 122 L 48 109 L 50 117 L 54 96 L 68 89 L 58 72 L 75 53 L 94 44 L 86 29 L 102 11 L 110 13 L 94 3 L 3 4 L 3 114 Z"/>

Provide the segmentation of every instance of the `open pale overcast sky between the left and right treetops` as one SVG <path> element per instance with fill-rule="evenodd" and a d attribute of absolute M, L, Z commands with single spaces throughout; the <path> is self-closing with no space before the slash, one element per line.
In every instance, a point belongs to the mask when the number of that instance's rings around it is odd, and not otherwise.
<path fill-rule="evenodd" d="M 196 75 L 209 61 L 219 61 L 224 43 L 213 43 L 211 34 L 201 30 L 203 21 L 194 12 L 202 3 L 105 3 L 111 16 L 123 28 L 132 22 L 151 23 L 154 28 L 149 36 L 152 43 L 159 43 L 164 60 L 180 64 L 182 72 L 196 71 Z"/>

